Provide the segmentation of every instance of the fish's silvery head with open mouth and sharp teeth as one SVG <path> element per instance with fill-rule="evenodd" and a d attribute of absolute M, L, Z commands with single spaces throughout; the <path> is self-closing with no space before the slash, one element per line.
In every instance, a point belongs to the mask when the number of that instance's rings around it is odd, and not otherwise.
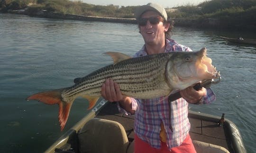
<path fill-rule="evenodd" d="M 166 76 L 169 85 L 183 90 L 201 80 L 219 77 L 219 72 L 206 56 L 206 48 L 193 52 L 175 52 L 166 65 Z"/>

